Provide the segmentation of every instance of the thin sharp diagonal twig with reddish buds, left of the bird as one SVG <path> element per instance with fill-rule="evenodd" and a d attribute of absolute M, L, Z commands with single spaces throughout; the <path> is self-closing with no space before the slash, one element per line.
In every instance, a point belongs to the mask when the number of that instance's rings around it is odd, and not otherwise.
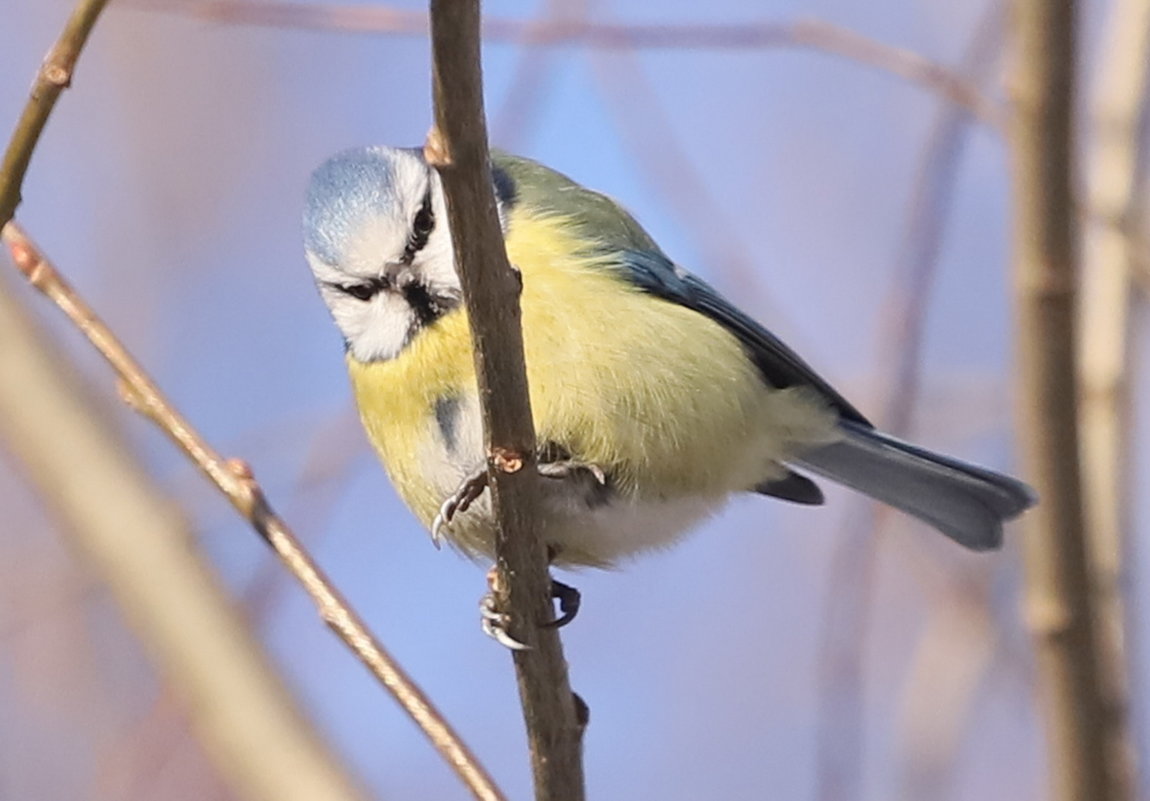
<path fill-rule="evenodd" d="M 251 468 L 241 460 L 224 460 L 192 429 L 115 334 L 15 222 L 9 222 L 3 228 L 2 239 L 16 268 L 32 286 L 60 307 L 116 371 L 124 400 L 160 426 L 228 496 L 256 533 L 267 540 L 312 596 L 323 621 L 411 715 L 471 794 L 482 801 L 503 801 L 494 783 L 443 715 L 376 641 L 347 601 L 304 550 L 288 524 L 273 511 Z"/>

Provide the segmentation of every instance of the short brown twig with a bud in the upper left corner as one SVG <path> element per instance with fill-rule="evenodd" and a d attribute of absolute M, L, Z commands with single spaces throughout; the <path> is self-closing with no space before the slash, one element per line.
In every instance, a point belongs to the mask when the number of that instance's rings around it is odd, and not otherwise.
<path fill-rule="evenodd" d="M 60 93 L 71 85 L 76 60 L 108 0 L 80 0 L 36 74 L 36 83 L 0 162 L 0 229 L 21 201 L 24 174 Z"/>

